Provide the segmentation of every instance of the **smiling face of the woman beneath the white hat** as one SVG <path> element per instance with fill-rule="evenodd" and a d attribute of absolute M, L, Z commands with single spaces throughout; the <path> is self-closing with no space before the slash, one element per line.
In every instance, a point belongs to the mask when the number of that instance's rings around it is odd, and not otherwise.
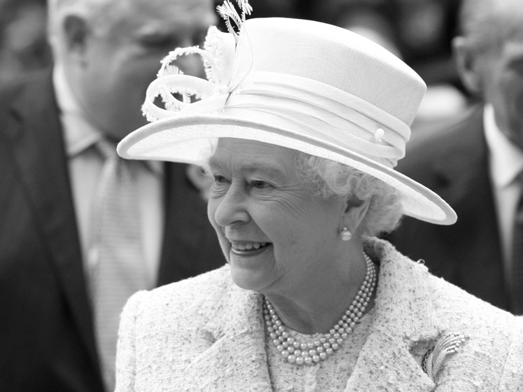
<path fill-rule="evenodd" d="M 347 265 L 339 237 L 346 203 L 313 196 L 298 179 L 296 155 L 258 141 L 220 139 L 209 162 L 209 220 L 239 287 L 296 293 Z"/>

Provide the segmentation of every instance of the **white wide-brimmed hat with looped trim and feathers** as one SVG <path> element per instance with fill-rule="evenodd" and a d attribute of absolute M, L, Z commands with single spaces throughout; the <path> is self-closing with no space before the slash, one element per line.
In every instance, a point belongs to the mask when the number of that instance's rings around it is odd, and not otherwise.
<path fill-rule="evenodd" d="M 403 195 L 406 215 L 456 221 L 438 195 L 393 170 L 426 91 L 417 73 L 340 27 L 286 18 L 234 21 L 239 34 L 230 23 L 229 33 L 211 28 L 205 50 L 177 49 L 166 57 L 144 104 L 152 122 L 120 142 L 123 158 L 201 164 L 219 137 L 263 141 L 381 179 Z M 169 63 L 188 53 L 204 57 L 209 80 L 172 71 Z M 188 94 L 201 99 L 190 103 Z M 154 104 L 159 95 L 167 109 Z"/>

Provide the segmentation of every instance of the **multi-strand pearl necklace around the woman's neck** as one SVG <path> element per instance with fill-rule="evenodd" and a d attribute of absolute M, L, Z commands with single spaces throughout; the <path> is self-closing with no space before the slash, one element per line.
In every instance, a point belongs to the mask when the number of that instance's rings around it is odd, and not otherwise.
<path fill-rule="evenodd" d="M 376 267 L 368 255 L 365 255 L 365 261 L 367 262 L 365 279 L 363 279 L 363 283 L 361 283 L 349 309 L 344 312 L 340 321 L 328 333 L 314 340 L 314 342 L 298 342 L 294 339 L 286 325 L 281 322 L 272 304 L 265 297 L 263 318 L 267 325 L 269 337 L 284 360 L 296 365 L 314 365 L 321 360 L 326 360 L 328 356 L 333 355 L 340 348 L 344 339 L 354 330 L 360 318 L 363 317 L 376 286 Z"/>

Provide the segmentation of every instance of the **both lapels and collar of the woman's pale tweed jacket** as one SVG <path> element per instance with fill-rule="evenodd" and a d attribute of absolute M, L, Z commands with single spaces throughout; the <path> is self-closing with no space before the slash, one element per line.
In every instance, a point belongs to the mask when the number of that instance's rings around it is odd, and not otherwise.
<path fill-rule="evenodd" d="M 365 251 L 380 262 L 375 320 L 345 391 L 431 391 L 433 381 L 409 352 L 439 333 L 426 267 L 385 241 L 372 239 Z M 225 274 L 200 308 L 201 328 L 215 342 L 190 365 L 189 374 L 202 391 L 272 391 L 261 297 L 235 286 L 228 269 Z"/>

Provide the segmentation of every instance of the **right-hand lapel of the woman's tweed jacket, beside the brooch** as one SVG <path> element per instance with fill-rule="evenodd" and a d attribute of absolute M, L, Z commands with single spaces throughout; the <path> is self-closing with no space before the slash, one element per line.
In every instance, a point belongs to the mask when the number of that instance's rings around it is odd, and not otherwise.
<path fill-rule="evenodd" d="M 410 353 L 412 346 L 435 340 L 440 332 L 426 268 L 383 241 L 368 242 L 365 251 L 381 260 L 375 320 L 345 391 L 432 391 L 435 384 Z"/>

